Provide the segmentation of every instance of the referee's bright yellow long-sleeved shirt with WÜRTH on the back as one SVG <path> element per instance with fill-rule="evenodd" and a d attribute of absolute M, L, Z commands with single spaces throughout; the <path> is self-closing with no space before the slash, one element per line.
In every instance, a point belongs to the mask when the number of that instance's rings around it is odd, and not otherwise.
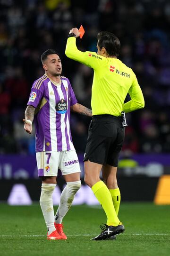
<path fill-rule="evenodd" d="M 144 97 L 136 75 L 119 59 L 106 58 L 94 52 L 81 52 L 76 47 L 76 38 L 69 37 L 65 54 L 73 60 L 94 70 L 92 85 L 92 114 L 120 116 L 144 108 Z M 131 101 L 124 104 L 129 93 Z"/>

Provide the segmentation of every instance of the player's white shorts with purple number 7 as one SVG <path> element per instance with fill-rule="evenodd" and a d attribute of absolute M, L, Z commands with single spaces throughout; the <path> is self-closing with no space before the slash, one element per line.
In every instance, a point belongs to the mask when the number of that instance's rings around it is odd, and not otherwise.
<path fill-rule="evenodd" d="M 62 175 L 80 172 L 80 165 L 76 150 L 42 151 L 36 153 L 38 177 L 58 176 L 58 169 Z"/>

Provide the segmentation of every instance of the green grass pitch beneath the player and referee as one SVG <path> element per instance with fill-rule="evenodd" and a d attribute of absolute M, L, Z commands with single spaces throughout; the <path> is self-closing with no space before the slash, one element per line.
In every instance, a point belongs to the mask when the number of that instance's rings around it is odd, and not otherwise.
<path fill-rule="evenodd" d="M 56 210 L 56 207 L 54 208 Z M 64 219 L 68 240 L 46 240 L 39 204 L 0 204 L 2 256 L 170 256 L 170 206 L 121 203 L 125 232 L 117 240 L 90 240 L 106 222 L 100 206 L 72 206 Z"/>

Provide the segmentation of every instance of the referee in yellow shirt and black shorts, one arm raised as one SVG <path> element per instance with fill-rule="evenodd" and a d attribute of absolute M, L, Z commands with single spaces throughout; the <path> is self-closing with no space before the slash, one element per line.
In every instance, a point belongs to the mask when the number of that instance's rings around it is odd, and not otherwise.
<path fill-rule="evenodd" d="M 119 38 L 110 32 L 97 35 L 97 54 L 81 52 L 76 47 L 77 28 L 68 35 L 66 55 L 94 70 L 92 85 L 92 121 L 85 149 L 85 183 L 102 205 L 107 222 L 94 240 L 114 239 L 125 228 L 118 218 L 120 191 L 116 173 L 119 153 L 124 141 L 125 122 L 121 112 L 144 108 L 144 97 L 132 69 L 119 56 Z M 131 100 L 124 103 L 129 93 Z M 123 112 L 122 112 L 123 114 Z M 102 170 L 102 178 L 100 172 Z"/>

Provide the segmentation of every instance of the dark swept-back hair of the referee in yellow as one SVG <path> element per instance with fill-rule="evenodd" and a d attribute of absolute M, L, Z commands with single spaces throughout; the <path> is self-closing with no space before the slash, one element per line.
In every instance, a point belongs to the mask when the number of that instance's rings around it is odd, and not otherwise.
<path fill-rule="evenodd" d="M 99 32 L 97 35 L 97 40 L 97 45 L 99 46 L 100 50 L 102 50 L 102 47 L 104 47 L 109 56 L 119 56 L 120 41 L 119 38 L 114 34 L 107 31 Z"/>

